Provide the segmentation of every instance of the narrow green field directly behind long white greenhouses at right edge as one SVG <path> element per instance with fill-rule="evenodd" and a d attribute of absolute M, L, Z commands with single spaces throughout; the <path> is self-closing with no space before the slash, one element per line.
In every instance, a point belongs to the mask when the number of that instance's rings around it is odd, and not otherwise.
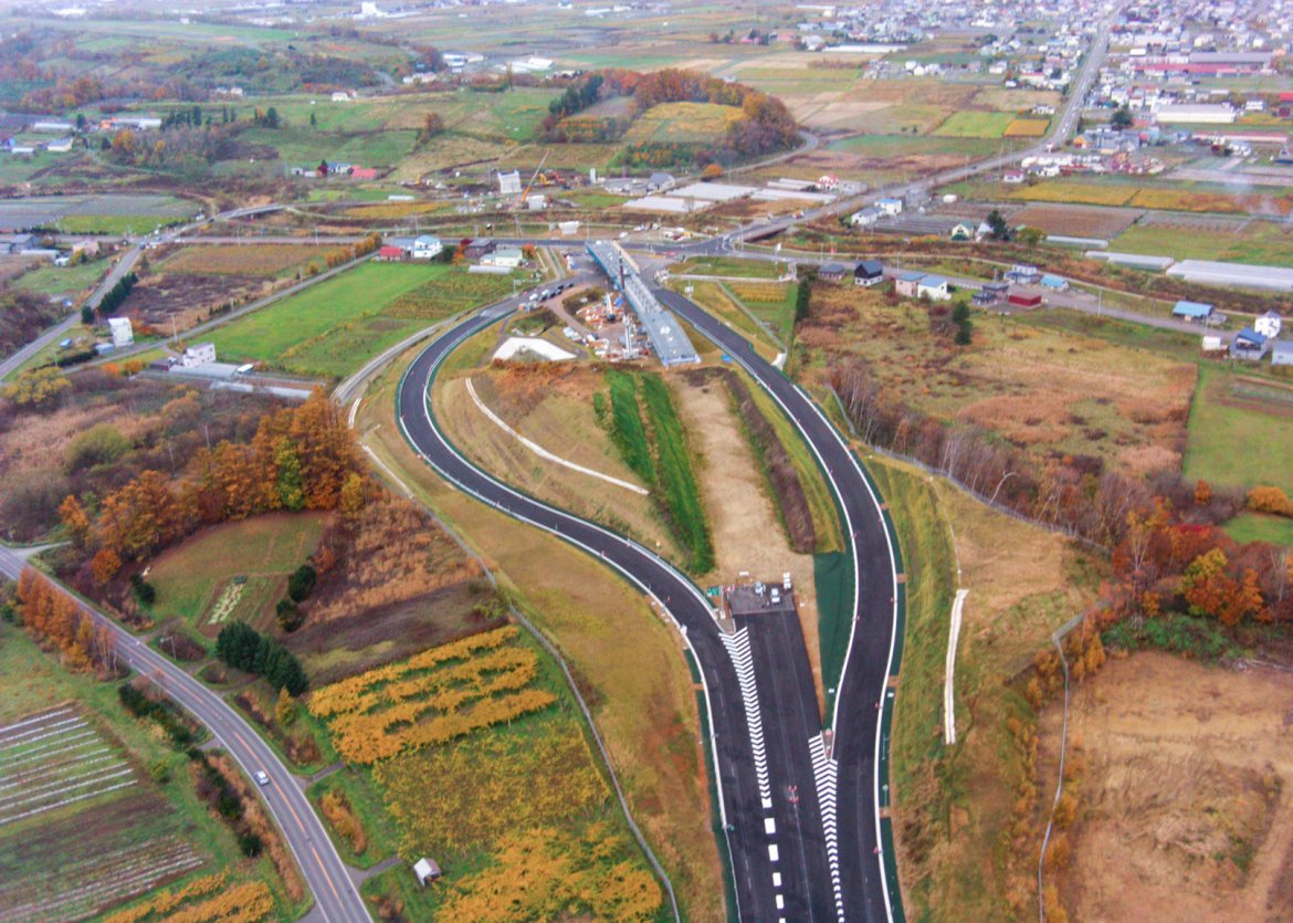
<path fill-rule="evenodd" d="M 1138 224 L 1127 228 L 1111 246 L 1127 253 L 1177 260 L 1222 260 L 1267 266 L 1293 264 L 1293 228 L 1272 221 L 1250 221 L 1237 231 L 1186 224 Z"/>

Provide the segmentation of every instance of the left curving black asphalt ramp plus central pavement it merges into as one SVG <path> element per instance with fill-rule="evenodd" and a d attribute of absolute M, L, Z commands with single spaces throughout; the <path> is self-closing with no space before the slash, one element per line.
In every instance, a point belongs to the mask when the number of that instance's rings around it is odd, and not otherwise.
<path fill-rule="evenodd" d="M 405 436 L 459 489 L 603 560 L 658 601 L 702 674 L 741 918 L 838 919 L 809 751 L 821 725 L 798 624 L 793 636 L 773 622 L 751 622 L 734 632 L 720 628 L 703 593 L 657 555 L 490 477 L 437 427 L 429 389 L 440 363 L 515 304 L 502 302 L 459 323 L 414 361 L 398 390 Z"/>

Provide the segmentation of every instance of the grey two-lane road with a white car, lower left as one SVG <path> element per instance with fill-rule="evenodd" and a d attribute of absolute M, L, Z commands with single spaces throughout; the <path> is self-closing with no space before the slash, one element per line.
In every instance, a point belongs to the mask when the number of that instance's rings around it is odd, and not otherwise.
<path fill-rule="evenodd" d="M 21 552 L 0 546 L 0 574 L 17 580 L 25 565 Z M 149 648 L 116 622 L 85 604 L 62 584 L 50 580 L 59 591 L 76 600 L 96 622 L 106 624 L 116 640 L 118 654 L 140 675 L 150 677 L 159 688 L 204 724 L 220 745 L 253 777 L 257 770 L 269 774 L 269 785 L 259 786 L 278 829 L 283 834 L 305 884 L 314 895 L 312 917 L 328 923 L 371 920 L 354 883 L 337 854 L 332 840 L 314 813 L 296 778 L 283 765 L 265 741 L 234 711 L 224 698 L 195 680 L 162 654 Z"/>

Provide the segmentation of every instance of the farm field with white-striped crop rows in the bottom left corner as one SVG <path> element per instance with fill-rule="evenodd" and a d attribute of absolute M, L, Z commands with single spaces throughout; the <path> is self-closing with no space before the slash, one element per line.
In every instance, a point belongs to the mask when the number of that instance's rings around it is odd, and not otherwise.
<path fill-rule="evenodd" d="M 234 836 L 199 801 L 185 755 L 123 710 L 116 684 L 66 672 L 9 623 L 0 728 L 5 919 L 93 917 L 225 871 L 264 895 L 246 919 L 291 915 L 269 860 L 234 858 Z M 154 767 L 171 781 L 154 782 Z"/>

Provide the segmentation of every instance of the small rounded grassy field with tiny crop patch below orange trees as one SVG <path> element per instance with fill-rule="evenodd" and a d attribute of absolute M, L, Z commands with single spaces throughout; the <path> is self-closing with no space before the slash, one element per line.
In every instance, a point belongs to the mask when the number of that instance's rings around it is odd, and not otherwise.
<path fill-rule="evenodd" d="M 313 553 L 321 513 L 275 513 L 213 526 L 162 553 L 149 582 L 153 618 L 177 618 L 207 637 L 231 621 L 273 622 L 287 577 Z M 242 578 L 242 579 L 239 579 Z"/>

